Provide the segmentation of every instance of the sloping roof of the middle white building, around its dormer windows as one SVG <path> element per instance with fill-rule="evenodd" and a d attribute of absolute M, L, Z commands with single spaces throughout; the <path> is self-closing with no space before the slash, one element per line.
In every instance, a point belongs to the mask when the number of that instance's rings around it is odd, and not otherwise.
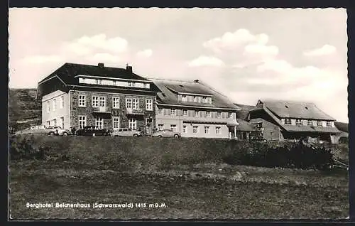
<path fill-rule="evenodd" d="M 212 90 L 211 87 L 204 85 L 202 82 L 189 82 L 178 80 L 160 80 L 151 79 L 158 87 L 157 102 L 158 104 L 171 104 L 189 107 L 211 107 L 226 108 L 239 110 L 239 107 L 233 104 L 228 97 Z M 181 102 L 178 99 L 179 93 L 189 93 L 191 95 L 207 95 L 212 97 L 212 104 L 197 102 Z"/>

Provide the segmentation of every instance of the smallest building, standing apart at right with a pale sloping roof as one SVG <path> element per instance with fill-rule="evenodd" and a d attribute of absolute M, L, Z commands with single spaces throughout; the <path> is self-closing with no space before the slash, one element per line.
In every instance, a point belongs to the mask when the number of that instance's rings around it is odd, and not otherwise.
<path fill-rule="evenodd" d="M 256 124 L 266 140 L 300 140 L 305 138 L 339 142 L 335 119 L 315 104 L 282 100 L 259 100 L 248 114 L 249 124 Z"/>

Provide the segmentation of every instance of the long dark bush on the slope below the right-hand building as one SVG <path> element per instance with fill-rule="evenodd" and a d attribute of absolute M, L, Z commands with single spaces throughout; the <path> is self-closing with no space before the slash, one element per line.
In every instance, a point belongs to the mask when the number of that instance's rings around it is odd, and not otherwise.
<path fill-rule="evenodd" d="M 333 163 L 332 159 L 331 149 L 321 146 L 271 146 L 265 142 L 253 142 L 250 148 L 235 147 L 223 157 L 229 164 L 302 169 L 323 169 Z"/>

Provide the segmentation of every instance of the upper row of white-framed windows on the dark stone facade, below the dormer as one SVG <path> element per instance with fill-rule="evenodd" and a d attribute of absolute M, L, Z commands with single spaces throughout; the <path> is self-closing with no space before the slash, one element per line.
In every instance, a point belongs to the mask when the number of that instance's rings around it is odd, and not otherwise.
<path fill-rule="evenodd" d="M 120 97 L 112 97 L 112 108 L 119 109 Z M 79 95 L 79 107 L 87 107 L 85 95 Z M 106 97 L 92 96 L 92 107 L 106 107 Z M 126 108 L 139 109 L 138 98 L 126 98 Z M 146 110 L 153 111 L 153 99 L 146 99 Z"/>

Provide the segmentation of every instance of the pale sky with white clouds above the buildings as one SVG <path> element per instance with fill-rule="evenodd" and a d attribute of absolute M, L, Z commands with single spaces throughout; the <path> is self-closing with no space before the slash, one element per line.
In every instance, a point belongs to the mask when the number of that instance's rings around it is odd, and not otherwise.
<path fill-rule="evenodd" d="M 346 9 L 9 11 L 9 87 L 35 88 L 64 63 L 202 80 L 233 102 L 314 102 L 349 122 Z"/>

